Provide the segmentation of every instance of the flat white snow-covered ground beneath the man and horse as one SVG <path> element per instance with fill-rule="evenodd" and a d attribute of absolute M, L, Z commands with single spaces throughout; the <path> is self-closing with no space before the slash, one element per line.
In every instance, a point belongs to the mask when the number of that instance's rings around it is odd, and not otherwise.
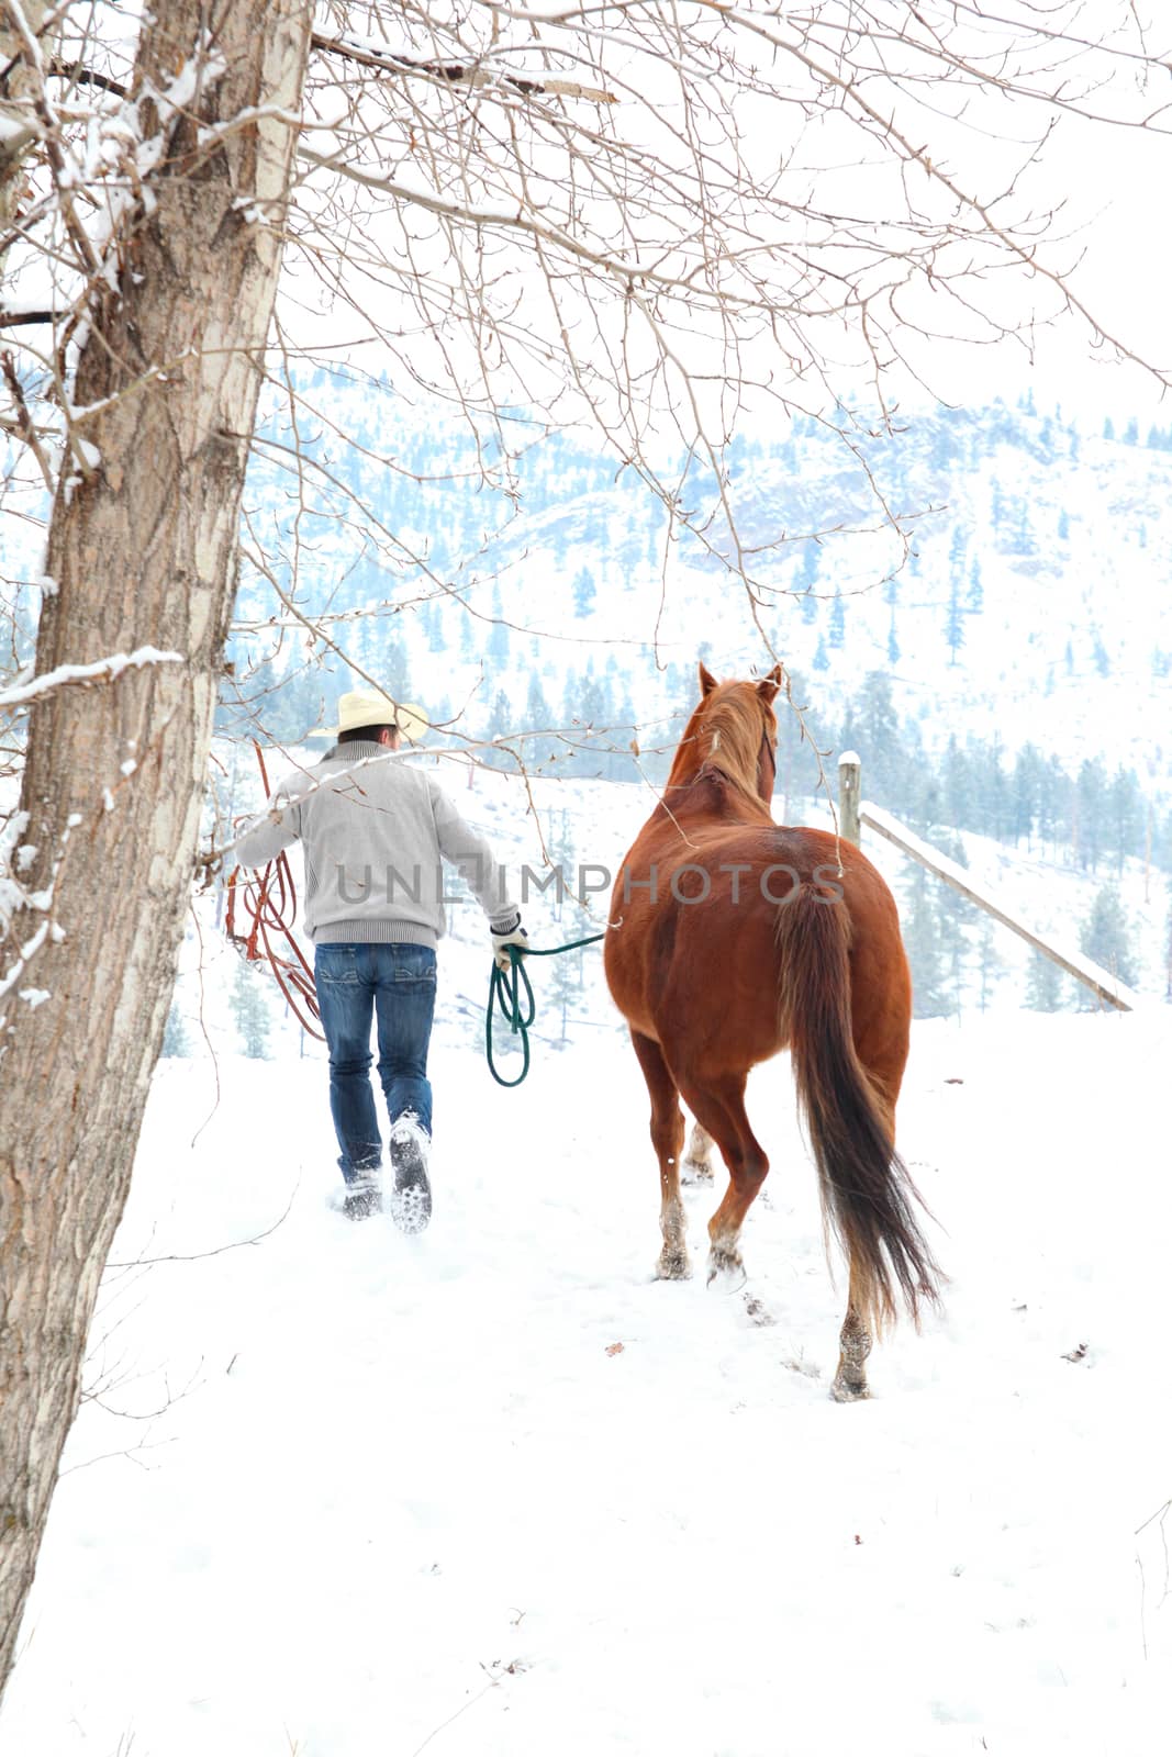
<path fill-rule="evenodd" d="M 706 1191 L 696 1277 L 650 1279 L 617 1033 L 506 1093 L 445 1014 L 416 1239 L 330 1207 L 320 1052 L 223 1056 L 218 1093 L 163 1061 L 0 1748 L 1161 1748 L 1170 1047 L 1160 1009 L 915 1028 L 903 1147 L 952 1279 L 852 1407 L 784 1059 L 738 1295 L 705 1286 Z"/>

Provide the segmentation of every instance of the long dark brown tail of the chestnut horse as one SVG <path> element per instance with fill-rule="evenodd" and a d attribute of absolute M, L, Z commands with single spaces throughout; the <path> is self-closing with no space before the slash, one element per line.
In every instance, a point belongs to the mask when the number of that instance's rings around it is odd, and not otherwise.
<path fill-rule="evenodd" d="M 879 1334 L 903 1295 L 919 1321 L 938 1269 L 915 1219 L 919 1193 L 850 1031 L 850 919 L 810 880 L 777 912 L 780 1016 L 789 1038 L 822 1216 L 850 1263 L 859 1320 Z"/>

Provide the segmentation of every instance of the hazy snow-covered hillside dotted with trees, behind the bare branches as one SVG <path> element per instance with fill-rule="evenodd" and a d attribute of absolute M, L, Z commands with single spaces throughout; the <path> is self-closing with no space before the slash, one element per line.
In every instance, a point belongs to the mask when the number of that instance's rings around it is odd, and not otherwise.
<path fill-rule="evenodd" d="M 996 736 L 1007 754 L 1033 741 L 1072 771 L 1086 757 L 1123 763 L 1168 798 L 1163 429 L 1105 436 L 1028 404 L 938 409 L 889 436 L 850 434 L 873 485 L 842 439 L 805 418 L 789 432 L 742 436 L 726 494 L 761 583 L 752 606 L 720 560 L 731 541 L 719 513 L 705 543 L 666 541 L 662 506 L 585 441 L 534 443 L 518 429 L 522 455 L 496 466 L 510 492 L 494 494 L 476 481 L 474 453 L 452 420 L 422 430 L 418 411 L 406 420 L 390 394 L 339 395 L 343 425 L 353 416 L 394 467 L 334 452 L 330 467 L 353 473 L 369 517 L 404 534 L 436 580 L 385 536 L 362 539 L 330 520 L 322 490 L 318 541 L 300 564 L 304 601 L 371 613 L 341 629 L 346 650 L 445 712 L 471 703 L 464 729 L 532 729 L 536 675 L 557 724 L 569 724 L 597 682 L 611 719 L 633 710 L 641 743 L 655 745 L 659 719 L 691 698 L 698 650 L 719 673 L 745 675 L 766 661 L 764 629 L 807 678 L 815 727 L 833 726 L 863 676 L 880 669 L 930 752 L 951 736 Z M 258 466 L 250 483 L 279 522 L 279 474 Z M 694 464 L 680 506 L 701 518 L 713 503 L 715 487 Z M 907 559 L 884 506 L 908 534 Z M 246 578 L 242 618 L 271 611 L 267 585 Z M 239 647 L 239 669 L 248 652 L 271 648 L 271 633 L 253 636 Z M 297 650 L 286 641 L 278 669 L 297 671 Z M 322 691 L 315 668 L 307 698 L 313 678 Z"/>

